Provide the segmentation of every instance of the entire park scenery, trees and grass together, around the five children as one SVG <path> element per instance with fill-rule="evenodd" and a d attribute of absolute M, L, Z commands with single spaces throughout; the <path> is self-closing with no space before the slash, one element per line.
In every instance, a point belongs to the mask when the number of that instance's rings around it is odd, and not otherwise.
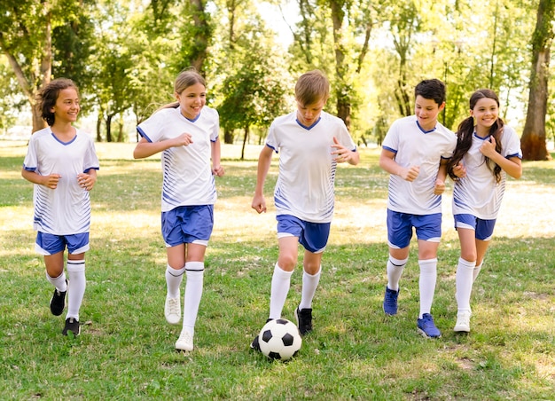
<path fill-rule="evenodd" d="M 542 75 L 544 91 L 530 101 L 541 81 L 534 55 L 546 58 L 539 72 L 549 72 L 552 6 L 0 0 L 0 397 L 555 399 L 551 75 Z M 539 49 L 538 20 L 551 27 Z M 174 350 L 180 327 L 168 326 L 162 311 L 160 155 L 135 161 L 132 151 L 137 122 L 173 99 L 176 74 L 191 65 L 207 76 L 209 105 L 221 115 L 226 175 L 216 182 L 195 350 L 181 354 Z M 250 202 L 268 125 L 292 110 L 293 83 L 312 68 L 330 77 L 326 109 L 348 122 L 362 161 L 337 172 L 316 330 L 291 362 L 272 363 L 248 346 L 267 318 L 277 259 L 277 158 L 266 188 L 269 212 L 258 216 Z M 77 338 L 61 336 L 62 321 L 49 311 L 51 288 L 33 249 L 32 185 L 20 177 L 27 138 L 40 123 L 35 93 L 57 76 L 80 86 L 78 125 L 96 138 L 101 163 Z M 392 121 L 412 113 L 413 87 L 429 77 L 447 83 L 440 121 L 449 128 L 468 114 L 472 91 L 489 87 L 517 132 L 539 120 L 537 147 L 545 150 L 539 161 L 524 161 L 520 180 L 508 180 L 474 287 L 469 335 L 452 332 L 459 247 L 448 183 L 434 300 L 438 342 L 416 332 L 414 249 L 399 315 L 381 311 L 387 174 L 378 167 L 379 143 Z M 300 285 L 298 269 L 285 318 L 293 319 Z"/>

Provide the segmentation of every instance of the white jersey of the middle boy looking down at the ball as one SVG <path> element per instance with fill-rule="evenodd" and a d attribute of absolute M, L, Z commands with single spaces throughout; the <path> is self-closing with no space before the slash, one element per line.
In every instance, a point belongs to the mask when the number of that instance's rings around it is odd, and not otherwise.
<path fill-rule="evenodd" d="M 333 215 L 337 162 L 333 138 L 356 150 L 345 123 L 322 112 L 311 127 L 297 122 L 297 112 L 277 117 L 266 145 L 279 153 L 274 200 L 277 215 L 291 215 L 310 223 L 330 223 Z"/>

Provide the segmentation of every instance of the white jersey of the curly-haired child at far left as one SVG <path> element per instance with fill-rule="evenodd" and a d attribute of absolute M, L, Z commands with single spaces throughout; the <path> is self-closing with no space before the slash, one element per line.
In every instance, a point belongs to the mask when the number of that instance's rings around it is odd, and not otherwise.
<path fill-rule="evenodd" d="M 56 189 L 34 185 L 34 228 L 54 235 L 89 232 L 89 192 L 79 185 L 77 175 L 99 169 L 94 141 L 76 130 L 69 142 L 61 142 L 50 127 L 36 131 L 29 140 L 23 168 L 40 176 L 59 174 Z"/>

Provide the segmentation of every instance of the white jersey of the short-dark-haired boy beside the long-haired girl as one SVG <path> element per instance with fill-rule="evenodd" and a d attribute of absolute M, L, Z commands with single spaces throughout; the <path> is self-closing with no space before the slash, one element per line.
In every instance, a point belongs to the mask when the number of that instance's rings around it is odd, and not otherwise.
<path fill-rule="evenodd" d="M 439 122 L 434 130 L 424 131 L 414 115 L 395 121 L 382 146 L 395 153 L 400 166 L 419 166 L 420 171 L 412 182 L 395 174 L 389 177 L 387 208 L 418 216 L 442 213 L 442 195 L 434 195 L 435 179 L 440 162 L 453 155 L 456 145 L 453 131 Z"/>

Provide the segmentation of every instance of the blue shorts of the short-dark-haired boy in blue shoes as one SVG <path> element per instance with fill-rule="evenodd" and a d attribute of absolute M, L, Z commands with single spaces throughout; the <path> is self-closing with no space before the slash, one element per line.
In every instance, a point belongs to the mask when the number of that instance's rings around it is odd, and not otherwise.
<path fill-rule="evenodd" d="M 442 238 L 442 214 L 410 215 L 387 209 L 387 240 L 391 248 L 407 248 L 412 239 L 412 227 L 418 240 L 439 242 Z"/>

